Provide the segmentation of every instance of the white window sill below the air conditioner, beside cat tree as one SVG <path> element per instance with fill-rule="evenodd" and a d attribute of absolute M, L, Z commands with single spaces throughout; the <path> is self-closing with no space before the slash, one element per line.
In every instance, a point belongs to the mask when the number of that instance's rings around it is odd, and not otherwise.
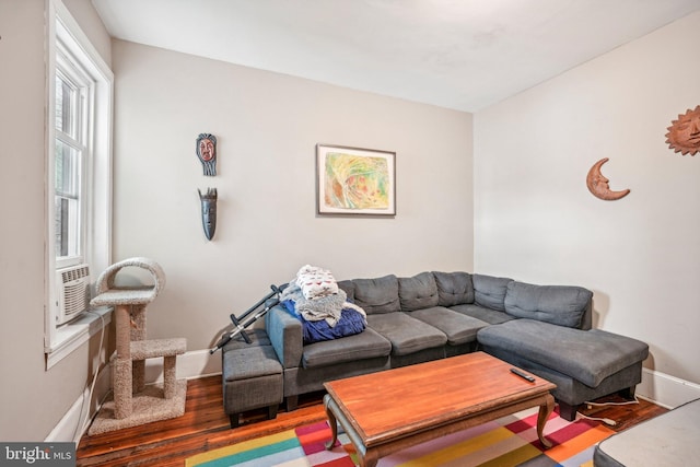
<path fill-rule="evenodd" d="M 92 313 L 84 313 L 74 322 L 56 329 L 51 345 L 45 349 L 46 370 L 68 357 L 73 350 L 88 342 L 112 323 L 112 307 L 100 307 Z"/>

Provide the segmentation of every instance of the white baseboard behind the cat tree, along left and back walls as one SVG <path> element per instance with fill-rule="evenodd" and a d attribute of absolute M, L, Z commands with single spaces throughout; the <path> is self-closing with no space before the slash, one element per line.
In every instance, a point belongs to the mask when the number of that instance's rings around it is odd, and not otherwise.
<path fill-rule="evenodd" d="M 177 358 L 177 377 L 192 380 L 221 374 L 221 354 L 209 354 L 209 350 L 195 350 Z M 145 361 L 145 383 L 153 384 L 163 381 L 163 359 Z M 112 390 L 112 363 L 105 365 L 95 381 L 94 394 L 90 395 L 86 387 L 73 402 L 68 412 L 46 437 L 46 442 L 80 442 L 88 430 L 86 420 L 97 413 L 102 401 Z M 91 398 L 91 402 L 88 399 Z M 90 407 L 88 407 L 90 406 Z M 222 409 L 223 410 L 223 409 Z"/>

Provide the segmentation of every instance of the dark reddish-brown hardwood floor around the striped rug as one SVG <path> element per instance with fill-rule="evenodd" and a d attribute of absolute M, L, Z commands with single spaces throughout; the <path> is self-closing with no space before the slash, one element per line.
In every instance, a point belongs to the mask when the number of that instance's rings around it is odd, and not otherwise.
<path fill-rule="evenodd" d="M 187 383 L 185 415 L 126 430 L 84 435 L 78 446 L 78 466 L 159 466 L 182 467 L 195 454 L 228 446 L 254 437 L 278 433 L 326 419 L 323 393 L 300 397 L 300 408 L 285 412 L 283 406 L 275 420 L 266 420 L 267 410 L 245 413 L 242 424 L 230 428 L 223 411 L 221 376 L 190 380 Z M 623 401 L 618 396 L 597 401 Z M 666 409 L 640 399 L 640 404 L 585 408 L 591 417 L 617 422 L 615 431 L 664 413 Z"/>

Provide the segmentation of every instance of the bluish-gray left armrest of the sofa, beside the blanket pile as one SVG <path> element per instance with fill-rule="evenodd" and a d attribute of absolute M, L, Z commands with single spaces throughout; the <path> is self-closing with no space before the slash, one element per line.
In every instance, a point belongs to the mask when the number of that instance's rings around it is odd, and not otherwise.
<path fill-rule="evenodd" d="M 265 315 L 265 327 L 282 366 L 285 369 L 300 366 L 303 347 L 302 323 L 284 311 L 281 305 L 277 305 Z"/>

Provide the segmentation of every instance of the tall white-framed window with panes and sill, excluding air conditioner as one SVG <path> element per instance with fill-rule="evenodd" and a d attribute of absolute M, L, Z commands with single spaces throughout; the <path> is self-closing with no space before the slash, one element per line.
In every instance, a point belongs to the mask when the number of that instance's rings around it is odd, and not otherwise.
<path fill-rule="evenodd" d="M 56 271 L 88 265 L 94 284 L 110 260 L 113 74 L 61 0 L 47 1 L 47 367 L 108 320 L 59 323 Z M 109 311 L 97 315 L 109 316 Z"/>

